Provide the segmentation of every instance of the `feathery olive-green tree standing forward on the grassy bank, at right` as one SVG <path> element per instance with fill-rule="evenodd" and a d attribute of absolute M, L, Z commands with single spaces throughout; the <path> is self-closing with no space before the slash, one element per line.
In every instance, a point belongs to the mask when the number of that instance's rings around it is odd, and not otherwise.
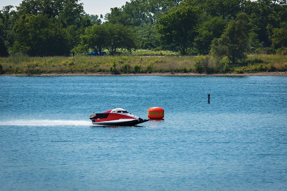
<path fill-rule="evenodd" d="M 215 38 L 211 51 L 218 58 L 227 56 L 234 64 L 238 60 L 246 58 L 248 47 L 248 15 L 239 13 L 235 20 L 228 23 L 228 27 L 220 38 Z"/>

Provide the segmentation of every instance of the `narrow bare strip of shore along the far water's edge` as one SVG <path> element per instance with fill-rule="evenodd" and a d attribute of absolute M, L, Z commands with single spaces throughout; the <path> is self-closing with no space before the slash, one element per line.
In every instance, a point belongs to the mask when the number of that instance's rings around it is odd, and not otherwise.
<path fill-rule="evenodd" d="M 1 74 L 0 76 L 287 76 L 287 72 L 260 72 L 244 74 L 198 74 L 198 73 L 140 73 L 140 74 L 103 74 L 103 73 L 75 73 L 75 74 Z"/>

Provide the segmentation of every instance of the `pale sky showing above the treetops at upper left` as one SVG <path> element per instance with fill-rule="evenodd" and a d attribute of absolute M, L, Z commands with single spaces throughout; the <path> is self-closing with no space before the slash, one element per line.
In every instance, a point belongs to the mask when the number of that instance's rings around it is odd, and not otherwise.
<path fill-rule="evenodd" d="M 7 5 L 19 6 L 22 0 L 0 0 L 0 10 Z M 105 15 L 110 13 L 110 8 L 121 7 L 130 0 L 79 0 L 78 3 L 84 3 L 84 10 L 90 15 Z M 14 8 L 14 10 L 16 10 Z"/>

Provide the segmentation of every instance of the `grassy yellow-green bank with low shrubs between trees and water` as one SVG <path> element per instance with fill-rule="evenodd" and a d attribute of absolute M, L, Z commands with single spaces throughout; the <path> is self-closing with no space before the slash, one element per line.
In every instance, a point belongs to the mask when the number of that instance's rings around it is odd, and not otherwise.
<path fill-rule="evenodd" d="M 1 74 L 257 73 L 287 71 L 287 57 L 249 55 L 240 63 L 210 56 L 100 56 L 0 58 Z"/>

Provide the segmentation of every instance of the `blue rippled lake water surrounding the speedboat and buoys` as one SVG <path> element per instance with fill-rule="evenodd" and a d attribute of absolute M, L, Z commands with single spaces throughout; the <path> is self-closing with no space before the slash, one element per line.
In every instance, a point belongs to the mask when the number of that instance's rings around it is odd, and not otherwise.
<path fill-rule="evenodd" d="M 0 190 L 287 190 L 286 94 L 286 76 L 0 76 Z M 114 107 L 165 117 L 92 125 Z"/>

